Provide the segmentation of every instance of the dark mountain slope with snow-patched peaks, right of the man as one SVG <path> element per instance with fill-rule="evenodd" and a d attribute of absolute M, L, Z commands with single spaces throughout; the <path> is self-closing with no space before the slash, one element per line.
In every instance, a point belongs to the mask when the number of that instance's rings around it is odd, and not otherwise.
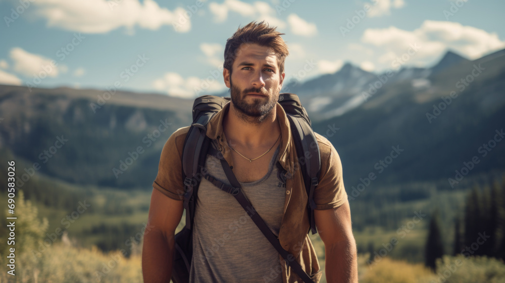
<path fill-rule="evenodd" d="M 505 168 L 505 50 L 474 61 L 448 52 L 431 68 L 405 68 L 385 83 L 380 76 L 368 83 L 375 92 L 363 87 L 360 104 L 313 124 L 321 132 L 340 128 L 328 138 L 351 185 L 370 172 L 380 174 L 375 182 L 391 183 L 455 179 L 463 167 L 471 167 L 466 174 Z M 483 150 L 487 144 L 491 151 Z M 397 146 L 404 151 L 381 165 Z M 465 166 L 475 156 L 479 163 Z"/>

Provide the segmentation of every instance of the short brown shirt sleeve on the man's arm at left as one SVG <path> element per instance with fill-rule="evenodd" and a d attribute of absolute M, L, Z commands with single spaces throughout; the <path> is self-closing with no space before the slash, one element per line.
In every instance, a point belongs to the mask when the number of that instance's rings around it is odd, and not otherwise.
<path fill-rule="evenodd" d="M 179 128 L 168 138 L 163 147 L 158 175 L 153 187 L 174 200 L 184 200 L 182 181 L 182 148 L 189 127 Z"/>

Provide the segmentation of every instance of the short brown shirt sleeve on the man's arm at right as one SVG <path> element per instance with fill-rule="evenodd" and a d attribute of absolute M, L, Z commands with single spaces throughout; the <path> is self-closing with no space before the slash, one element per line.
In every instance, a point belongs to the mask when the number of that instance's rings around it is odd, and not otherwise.
<path fill-rule="evenodd" d="M 347 200 L 342 178 L 342 163 L 328 139 L 317 133 L 316 136 L 318 136 L 321 155 L 321 174 L 319 184 L 314 191 L 314 202 L 316 209 L 332 209 L 339 207 Z"/>

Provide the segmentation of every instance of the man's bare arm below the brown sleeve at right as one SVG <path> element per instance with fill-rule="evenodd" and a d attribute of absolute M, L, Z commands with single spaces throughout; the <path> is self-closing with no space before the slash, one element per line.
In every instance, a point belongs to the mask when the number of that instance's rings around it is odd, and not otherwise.
<path fill-rule="evenodd" d="M 349 202 L 327 210 L 314 210 L 317 229 L 325 250 L 328 283 L 358 282 L 358 256 L 352 235 Z"/>

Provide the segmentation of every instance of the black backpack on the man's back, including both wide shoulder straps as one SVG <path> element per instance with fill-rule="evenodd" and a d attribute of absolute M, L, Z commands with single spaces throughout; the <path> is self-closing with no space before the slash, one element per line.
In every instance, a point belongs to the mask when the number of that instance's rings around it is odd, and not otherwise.
<path fill-rule="evenodd" d="M 188 130 L 182 151 L 182 179 L 184 180 L 185 227 L 175 235 L 175 257 L 172 271 L 174 283 L 188 282 L 192 257 L 192 230 L 196 196 L 200 180 L 204 177 L 200 167 L 205 166 L 211 140 L 207 136 L 207 124 L 230 98 L 201 96 L 193 103 L 193 123 Z M 319 182 L 321 157 L 312 123 L 304 107 L 293 93 L 280 93 L 278 103 L 282 106 L 289 120 L 298 156 L 299 170 L 304 180 L 308 195 L 310 228 L 307 231 L 317 233 L 314 219 L 314 190 Z"/>

